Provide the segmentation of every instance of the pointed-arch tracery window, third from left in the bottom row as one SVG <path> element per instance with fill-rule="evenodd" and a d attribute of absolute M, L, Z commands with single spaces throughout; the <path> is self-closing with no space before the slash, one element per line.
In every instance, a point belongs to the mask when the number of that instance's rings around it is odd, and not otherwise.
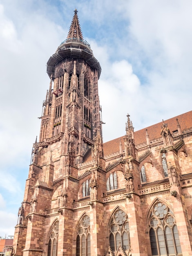
<path fill-rule="evenodd" d="M 124 250 L 129 249 L 129 222 L 127 214 L 121 209 L 117 209 L 111 218 L 109 225 L 109 244 L 113 252 L 118 250 L 119 245 Z"/>

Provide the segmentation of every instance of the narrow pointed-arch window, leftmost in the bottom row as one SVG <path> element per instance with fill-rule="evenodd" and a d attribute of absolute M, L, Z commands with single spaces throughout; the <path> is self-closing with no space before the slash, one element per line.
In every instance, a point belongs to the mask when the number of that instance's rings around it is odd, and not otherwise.
<path fill-rule="evenodd" d="M 57 220 L 50 229 L 48 237 L 47 256 L 57 256 L 59 221 Z"/>

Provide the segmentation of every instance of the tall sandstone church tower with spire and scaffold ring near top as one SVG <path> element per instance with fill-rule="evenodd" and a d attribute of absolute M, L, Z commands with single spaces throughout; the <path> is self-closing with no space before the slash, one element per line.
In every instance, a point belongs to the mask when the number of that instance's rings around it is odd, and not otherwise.
<path fill-rule="evenodd" d="M 83 40 L 77 12 L 67 39 L 47 62 L 49 90 L 43 101 L 39 142 L 36 139 L 33 144 L 13 255 L 52 256 L 56 255 L 55 246 L 57 255 L 72 255 L 72 210 L 78 200 L 81 175 L 78 166 L 89 152 L 93 154 L 92 167 L 102 165 L 101 67 L 89 43 Z M 96 177 L 95 173 L 91 175 L 92 188 L 88 189 L 94 190 Z M 66 231 L 70 244 L 63 238 Z"/>

